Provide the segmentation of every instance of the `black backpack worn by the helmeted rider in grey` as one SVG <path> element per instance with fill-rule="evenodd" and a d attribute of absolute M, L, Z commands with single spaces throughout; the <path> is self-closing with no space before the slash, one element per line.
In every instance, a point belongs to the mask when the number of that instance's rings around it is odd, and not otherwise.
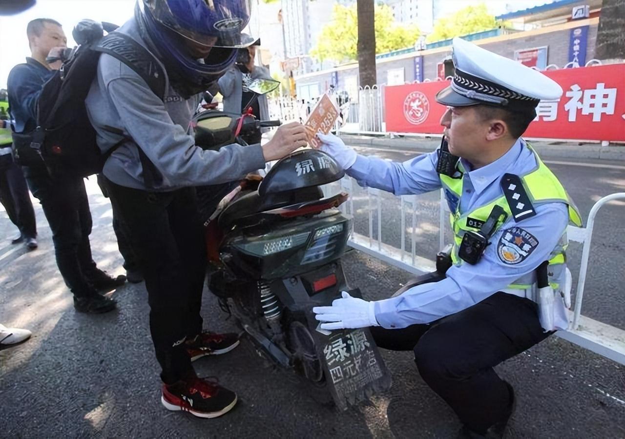
<path fill-rule="evenodd" d="M 105 24 L 106 25 L 106 24 Z M 22 165 L 41 165 L 43 160 L 52 175 L 87 177 L 101 172 L 109 155 L 128 139 L 124 138 L 102 153 L 96 144 L 96 131 L 89 121 L 85 99 L 96 77 L 101 54 L 109 54 L 141 76 L 150 89 L 161 98 L 165 92 L 165 75 L 161 65 L 133 38 L 114 32 L 109 25 L 107 36 L 99 22 L 83 21 L 74 29 L 79 43 L 59 71 L 44 84 L 39 96 L 37 129 L 14 136 L 16 159 Z M 123 134 L 116 127 L 107 127 Z M 158 174 L 143 150 L 139 157 L 146 184 L 153 185 Z"/>

